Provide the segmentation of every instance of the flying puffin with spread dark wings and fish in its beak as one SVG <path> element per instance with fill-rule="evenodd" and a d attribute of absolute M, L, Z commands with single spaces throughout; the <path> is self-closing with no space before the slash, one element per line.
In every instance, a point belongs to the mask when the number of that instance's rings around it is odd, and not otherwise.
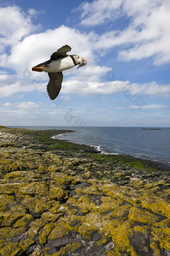
<path fill-rule="evenodd" d="M 54 100 L 61 89 L 62 71 L 77 66 L 77 69 L 87 64 L 86 60 L 79 55 L 67 55 L 71 51 L 70 46 L 64 45 L 50 56 L 50 60 L 40 63 L 32 68 L 32 71 L 47 72 L 49 83 L 46 90 L 51 100 Z"/>

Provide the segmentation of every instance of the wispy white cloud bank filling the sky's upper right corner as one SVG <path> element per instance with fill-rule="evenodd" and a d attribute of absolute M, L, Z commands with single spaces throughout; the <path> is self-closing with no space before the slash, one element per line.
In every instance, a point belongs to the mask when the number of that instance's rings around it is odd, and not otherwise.
<path fill-rule="evenodd" d="M 109 31 L 101 35 L 96 48 L 108 49 L 126 45 L 127 50 L 118 53 L 120 60 L 140 60 L 153 57 L 154 65 L 170 61 L 170 3 L 167 0 L 94 0 L 83 2 L 78 9 L 82 12 L 81 24 L 95 26 L 120 17 L 130 18 L 126 28 Z M 126 20 L 127 21 L 127 20 Z"/>

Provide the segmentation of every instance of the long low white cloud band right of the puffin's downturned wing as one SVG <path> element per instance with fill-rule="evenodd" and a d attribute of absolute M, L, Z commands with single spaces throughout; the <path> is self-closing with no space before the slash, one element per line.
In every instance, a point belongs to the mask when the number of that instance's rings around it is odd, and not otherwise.
<path fill-rule="evenodd" d="M 149 95 L 151 97 L 169 97 L 170 85 L 151 83 L 137 84 L 129 81 L 94 82 L 82 80 L 66 80 L 62 83 L 61 93 L 78 93 L 81 96 L 109 95 L 117 92 L 126 95 Z"/>

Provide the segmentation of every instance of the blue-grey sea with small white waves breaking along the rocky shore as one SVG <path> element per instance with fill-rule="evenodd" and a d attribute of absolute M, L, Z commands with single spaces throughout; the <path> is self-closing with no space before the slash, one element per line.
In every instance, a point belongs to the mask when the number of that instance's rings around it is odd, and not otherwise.
<path fill-rule="evenodd" d="M 76 126 L 8 126 L 31 130 L 73 130 L 53 134 L 53 139 L 67 140 L 94 147 L 100 154 L 131 155 L 170 166 L 170 128 L 85 127 Z"/>

